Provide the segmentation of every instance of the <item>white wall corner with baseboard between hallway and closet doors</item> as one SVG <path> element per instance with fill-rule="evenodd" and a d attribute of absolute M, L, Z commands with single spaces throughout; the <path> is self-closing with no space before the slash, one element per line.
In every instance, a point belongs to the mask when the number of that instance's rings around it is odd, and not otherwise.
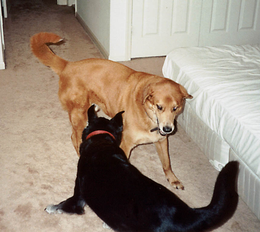
<path fill-rule="evenodd" d="M 76 17 L 105 58 L 130 60 L 132 0 L 76 0 Z"/>

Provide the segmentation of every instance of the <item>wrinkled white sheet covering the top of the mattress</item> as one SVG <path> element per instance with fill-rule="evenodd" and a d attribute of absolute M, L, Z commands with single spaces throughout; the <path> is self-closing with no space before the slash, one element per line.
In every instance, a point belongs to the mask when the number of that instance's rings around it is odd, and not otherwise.
<path fill-rule="evenodd" d="M 260 47 L 177 48 L 163 75 L 193 95 L 199 118 L 260 178 Z"/>

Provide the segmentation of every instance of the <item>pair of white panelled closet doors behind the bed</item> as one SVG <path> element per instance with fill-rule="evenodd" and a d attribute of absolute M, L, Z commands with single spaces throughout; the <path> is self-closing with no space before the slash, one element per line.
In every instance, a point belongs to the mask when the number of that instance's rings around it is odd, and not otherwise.
<path fill-rule="evenodd" d="M 131 57 L 260 43 L 260 0 L 133 0 Z"/>

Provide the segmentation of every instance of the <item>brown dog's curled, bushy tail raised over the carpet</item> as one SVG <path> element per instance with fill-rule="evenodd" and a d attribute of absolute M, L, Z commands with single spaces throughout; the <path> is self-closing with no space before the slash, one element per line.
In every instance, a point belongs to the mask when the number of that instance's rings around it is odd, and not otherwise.
<path fill-rule="evenodd" d="M 55 55 L 46 43 L 58 43 L 62 38 L 54 33 L 40 32 L 31 37 L 32 53 L 46 66 L 49 66 L 58 75 L 67 65 L 68 61 Z"/>

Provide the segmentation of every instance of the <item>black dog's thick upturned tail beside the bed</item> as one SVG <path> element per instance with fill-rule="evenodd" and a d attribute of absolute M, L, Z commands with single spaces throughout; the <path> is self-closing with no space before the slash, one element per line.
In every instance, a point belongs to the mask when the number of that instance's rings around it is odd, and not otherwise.
<path fill-rule="evenodd" d="M 207 231 L 225 223 L 234 213 L 238 195 L 235 182 L 238 162 L 229 162 L 219 173 L 210 204 L 203 208 L 189 208 L 181 212 L 176 231 Z M 177 221 L 177 218 L 174 221 Z M 178 227 L 178 226 L 177 226 Z"/>

